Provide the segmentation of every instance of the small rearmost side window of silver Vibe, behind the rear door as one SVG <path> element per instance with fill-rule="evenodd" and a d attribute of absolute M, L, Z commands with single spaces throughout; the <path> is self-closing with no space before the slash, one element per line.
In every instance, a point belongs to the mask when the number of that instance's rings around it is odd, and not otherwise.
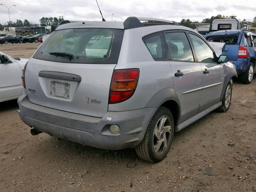
<path fill-rule="evenodd" d="M 162 32 L 142 38 L 150 54 L 156 61 L 166 60 L 164 34 Z"/>

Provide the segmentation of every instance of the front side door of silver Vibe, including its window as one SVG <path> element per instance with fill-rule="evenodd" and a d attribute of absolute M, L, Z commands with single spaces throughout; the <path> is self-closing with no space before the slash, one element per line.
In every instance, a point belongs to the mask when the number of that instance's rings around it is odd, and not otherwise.
<path fill-rule="evenodd" d="M 196 52 L 196 58 L 203 70 L 204 83 L 200 100 L 200 111 L 220 102 L 224 82 L 224 68 L 216 62 L 214 51 L 206 41 L 197 34 L 189 33 L 190 41 Z"/>

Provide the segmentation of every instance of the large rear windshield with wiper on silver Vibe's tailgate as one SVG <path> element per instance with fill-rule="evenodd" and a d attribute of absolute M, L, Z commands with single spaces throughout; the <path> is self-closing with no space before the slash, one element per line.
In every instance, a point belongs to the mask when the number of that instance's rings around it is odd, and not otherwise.
<path fill-rule="evenodd" d="M 124 30 L 76 28 L 53 32 L 34 58 L 72 63 L 117 63 Z"/>

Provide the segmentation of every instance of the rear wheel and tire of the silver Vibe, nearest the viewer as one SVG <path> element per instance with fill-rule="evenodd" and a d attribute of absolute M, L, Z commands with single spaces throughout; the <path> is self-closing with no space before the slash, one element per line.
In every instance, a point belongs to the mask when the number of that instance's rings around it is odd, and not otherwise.
<path fill-rule="evenodd" d="M 150 120 L 141 144 L 135 148 L 136 154 L 148 162 L 160 162 L 168 154 L 173 136 L 172 113 L 168 108 L 160 107 Z"/>

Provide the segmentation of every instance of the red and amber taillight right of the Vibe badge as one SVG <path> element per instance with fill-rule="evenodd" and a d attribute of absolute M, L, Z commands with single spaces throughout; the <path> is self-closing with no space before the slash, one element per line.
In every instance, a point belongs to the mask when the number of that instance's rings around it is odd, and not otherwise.
<path fill-rule="evenodd" d="M 129 99 L 136 90 L 138 79 L 138 69 L 114 70 L 110 86 L 109 104 Z"/>

